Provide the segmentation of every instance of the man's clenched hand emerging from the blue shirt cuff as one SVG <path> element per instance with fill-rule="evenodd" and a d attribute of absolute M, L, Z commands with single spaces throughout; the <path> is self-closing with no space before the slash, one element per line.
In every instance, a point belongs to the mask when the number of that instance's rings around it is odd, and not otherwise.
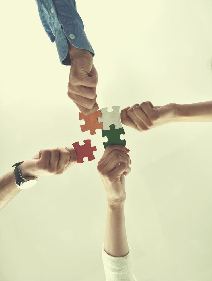
<path fill-rule="evenodd" d="M 93 57 L 87 50 L 75 48 L 69 43 L 71 69 L 68 83 L 68 96 L 79 110 L 90 115 L 98 110 L 96 85 L 98 74 L 93 65 Z"/>

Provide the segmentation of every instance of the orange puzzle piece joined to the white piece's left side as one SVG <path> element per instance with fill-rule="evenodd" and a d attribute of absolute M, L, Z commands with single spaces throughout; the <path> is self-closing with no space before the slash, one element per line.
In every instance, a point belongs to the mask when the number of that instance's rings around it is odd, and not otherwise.
<path fill-rule="evenodd" d="M 83 113 L 79 113 L 79 120 L 85 120 L 85 125 L 80 125 L 81 131 L 90 131 L 91 135 L 95 135 L 96 129 L 103 129 L 103 122 L 98 122 L 98 117 L 102 117 L 102 112 L 100 110 L 96 111 L 90 115 L 84 115 Z"/>

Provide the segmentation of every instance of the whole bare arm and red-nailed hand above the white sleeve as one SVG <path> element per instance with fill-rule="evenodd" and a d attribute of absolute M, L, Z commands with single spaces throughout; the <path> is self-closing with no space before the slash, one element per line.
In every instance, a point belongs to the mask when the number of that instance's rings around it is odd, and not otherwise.
<path fill-rule="evenodd" d="M 104 250 L 114 257 L 129 253 L 124 214 L 125 176 L 131 171 L 128 152 L 122 145 L 110 145 L 97 166 L 108 198 Z"/>

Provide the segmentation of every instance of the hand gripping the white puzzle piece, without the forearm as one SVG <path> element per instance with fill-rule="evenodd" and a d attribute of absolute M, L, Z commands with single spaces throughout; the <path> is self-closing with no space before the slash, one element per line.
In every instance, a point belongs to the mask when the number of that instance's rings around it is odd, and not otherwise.
<path fill-rule="evenodd" d="M 134 104 L 131 107 L 122 109 L 122 124 L 142 132 L 149 129 L 174 122 L 176 117 L 176 104 L 166 104 L 165 106 L 153 106 L 151 102 Z"/>

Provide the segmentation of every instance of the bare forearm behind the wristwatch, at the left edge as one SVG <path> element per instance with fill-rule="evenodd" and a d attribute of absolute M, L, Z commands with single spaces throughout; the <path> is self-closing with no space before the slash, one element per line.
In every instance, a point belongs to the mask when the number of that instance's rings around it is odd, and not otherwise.
<path fill-rule="evenodd" d="M 15 184 L 14 171 L 0 178 L 0 210 L 21 190 Z"/>

